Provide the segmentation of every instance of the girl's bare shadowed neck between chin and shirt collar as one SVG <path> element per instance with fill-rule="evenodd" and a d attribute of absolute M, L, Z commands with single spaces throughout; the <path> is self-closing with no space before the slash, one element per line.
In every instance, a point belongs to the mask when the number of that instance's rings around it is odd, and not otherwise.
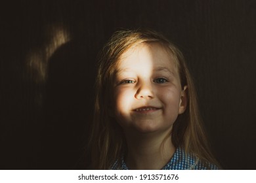
<path fill-rule="evenodd" d="M 126 139 L 128 152 L 125 163 L 129 169 L 161 169 L 175 152 L 169 133 L 130 133 Z"/>

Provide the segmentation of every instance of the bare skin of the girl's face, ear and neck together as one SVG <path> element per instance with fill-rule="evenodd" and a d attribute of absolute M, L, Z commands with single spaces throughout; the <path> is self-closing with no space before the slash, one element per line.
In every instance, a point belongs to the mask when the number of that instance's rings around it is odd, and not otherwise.
<path fill-rule="evenodd" d="M 129 48 L 119 59 L 114 116 L 123 127 L 129 169 L 161 169 L 173 156 L 173 123 L 186 110 L 186 90 L 171 54 L 158 43 Z"/>

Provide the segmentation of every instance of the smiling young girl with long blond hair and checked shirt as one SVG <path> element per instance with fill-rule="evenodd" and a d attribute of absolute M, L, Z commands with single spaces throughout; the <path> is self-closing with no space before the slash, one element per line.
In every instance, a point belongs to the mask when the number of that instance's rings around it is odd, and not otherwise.
<path fill-rule="evenodd" d="M 181 52 L 153 31 L 117 31 L 96 78 L 93 169 L 218 169 Z"/>

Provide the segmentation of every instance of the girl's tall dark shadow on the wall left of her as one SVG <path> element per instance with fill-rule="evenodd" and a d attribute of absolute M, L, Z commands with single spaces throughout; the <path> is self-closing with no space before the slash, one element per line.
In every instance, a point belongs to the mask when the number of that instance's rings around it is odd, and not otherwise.
<path fill-rule="evenodd" d="M 45 91 L 43 169 L 87 169 L 93 120 L 95 56 L 70 41 L 49 59 Z"/>

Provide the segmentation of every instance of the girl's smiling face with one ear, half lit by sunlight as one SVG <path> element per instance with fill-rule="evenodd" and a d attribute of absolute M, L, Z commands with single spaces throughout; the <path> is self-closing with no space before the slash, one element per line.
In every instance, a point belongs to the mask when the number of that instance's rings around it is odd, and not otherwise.
<path fill-rule="evenodd" d="M 139 44 L 119 58 L 114 115 L 124 131 L 170 131 L 185 109 L 177 66 L 160 44 Z"/>

